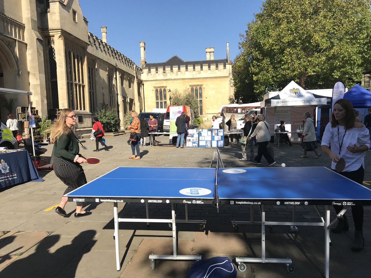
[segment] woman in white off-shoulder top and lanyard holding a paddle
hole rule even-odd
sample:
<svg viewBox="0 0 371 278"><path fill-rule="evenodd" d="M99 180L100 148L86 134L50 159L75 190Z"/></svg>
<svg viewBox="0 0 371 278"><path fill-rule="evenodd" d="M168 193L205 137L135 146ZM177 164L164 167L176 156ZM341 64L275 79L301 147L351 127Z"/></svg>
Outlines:
<svg viewBox="0 0 371 278"><path fill-rule="evenodd" d="M331 149L329 149L330 145ZM362 123L356 122L351 102L347 99L337 100L331 114L331 123L326 125L322 137L322 150L331 158L331 169L335 169L340 157L344 158L346 165L339 174L362 184L365 173L365 152L370 146L368 129ZM355 229L352 250L359 251L364 246L362 234L363 206L355 205L351 207ZM336 214L339 214L343 206L334 205L334 208ZM341 231L348 231L348 229L347 217L342 215L339 218L338 225L331 231L340 233Z"/></svg>

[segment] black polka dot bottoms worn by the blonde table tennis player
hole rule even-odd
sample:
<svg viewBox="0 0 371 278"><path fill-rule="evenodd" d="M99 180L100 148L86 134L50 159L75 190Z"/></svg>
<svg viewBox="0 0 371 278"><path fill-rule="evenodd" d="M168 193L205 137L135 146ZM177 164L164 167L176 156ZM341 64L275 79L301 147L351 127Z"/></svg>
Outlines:
<svg viewBox="0 0 371 278"><path fill-rule="evenodd" d="M68 187L63 195L79 188L86 183L86 177L82 166L62 157L56 157L53 161L55 175ZM83 206L85 202L76 202L76 206Z"/></svg>

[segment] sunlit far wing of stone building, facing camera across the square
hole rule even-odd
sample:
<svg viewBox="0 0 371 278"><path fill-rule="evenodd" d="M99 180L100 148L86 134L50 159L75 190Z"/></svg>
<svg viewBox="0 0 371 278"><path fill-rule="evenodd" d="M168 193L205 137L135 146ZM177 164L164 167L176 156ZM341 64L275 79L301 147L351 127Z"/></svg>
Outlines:
<svg viewBox="0 0 371 278"><path fill-rule="evenodd" d="M145 43L140 42L145 111L170 105L171 91L187 89L198 99L199 115L208 119L233 97L232 63L227 42L226 59L214 60L214 47L206 48L206 60L187 61L173 56L166 62L146 63Z"/></svg>

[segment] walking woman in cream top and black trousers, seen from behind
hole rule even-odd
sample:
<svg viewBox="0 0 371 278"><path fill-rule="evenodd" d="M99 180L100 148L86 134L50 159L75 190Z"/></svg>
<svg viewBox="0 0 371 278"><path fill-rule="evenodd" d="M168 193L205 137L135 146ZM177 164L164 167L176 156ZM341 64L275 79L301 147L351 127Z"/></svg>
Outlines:
<svg viewBox="0 0 371 278"><path fill-rule="evenodd" d="M257 142L257 156L255 156L255 160L253 161L254 164L262 164L260 160L262 160L262 156L268 161L268 165L275 164L275 160L270 156L267 145L270 139L269 133L269 123L265 121L265 115L259 115L259 123L256 125L256 128L252 135L250 135L249 140L252 140L254 136L256 136Z"/></svg>

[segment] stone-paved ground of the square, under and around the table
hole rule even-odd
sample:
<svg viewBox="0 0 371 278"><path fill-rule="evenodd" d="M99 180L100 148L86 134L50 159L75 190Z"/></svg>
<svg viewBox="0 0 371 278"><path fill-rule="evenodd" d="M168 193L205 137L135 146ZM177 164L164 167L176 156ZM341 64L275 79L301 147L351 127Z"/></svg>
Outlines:
<svg viewBox="0 0 371 278"><path fill-rule="evenodd" d="M86 157L101 159L98 165L83 165L86 178L91 181L118 166L137 167L201 167L210 166L212 148L174 148L167 145L168 137L158 136L160 146L141 148L141 160L128 159L131 155L127 145L128 135L106 137L111 146L105 152L93 152L95 142L87 139L81 150ZM49 155L52 145L46 147ZM319 146L320 149L320 146ZM322 153L314 159L299 158L302 148L298 144L289 147L274 147L277 163L273 167L330 166L329 158ZM257 148L255 147L255 152ZM220 148L225 167L268 167L241 162L239 146ZM371 152L366 153L365 183L371 187ZM66 205L68 217L61 217L48 208L58 205L65 185L53 171L40 171L44 182L28 182L0 191L0 278L2 277L184 277L193 262L157 261L152 271L149 254L172 254L172 232L168 224L145 223L119 224L121 251L120 271L116 271L115 243L113 240L113 204L88 203L93 214L84 218L73 217L75 204ZM298 181L300 183L300 173ZM257 185L259 186L259 185ZM323 211L324 207L319 207ZM145 216L145 207L139 203L119 204L125 218ZM255 221L260 221L259 207L252 208ZM151 204L150 216L169 218L170 206ZM177 218L184 219L183 205L178 205ZM234 231L231 221L250 221L250 208L223 205L219 213L214 206L188 205L189 219L207 221L204 231L197 224L177 224L178 254L202 255L203 258L227 256L260 257L260 225L238 225ZM330 277L369 277L371 263L371 211L365 207L365 246L360 252L352 252L354 225L351 213L347 212L350 228L348 232L331 234ZM334 211L331 212L334 217ZM270 221L292 221L292 207L266 206L266 218ZM311 207L296 207L297 221L317 221L318 215ZM299 227L299 232L289 232L288 226L274 226L266 233L266 256L291 258L295 272L289 274L283 264L246 264L244 272L237 277L324 277L324 230L321 227Z"/></svg>

